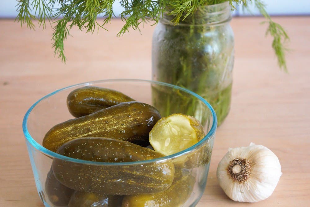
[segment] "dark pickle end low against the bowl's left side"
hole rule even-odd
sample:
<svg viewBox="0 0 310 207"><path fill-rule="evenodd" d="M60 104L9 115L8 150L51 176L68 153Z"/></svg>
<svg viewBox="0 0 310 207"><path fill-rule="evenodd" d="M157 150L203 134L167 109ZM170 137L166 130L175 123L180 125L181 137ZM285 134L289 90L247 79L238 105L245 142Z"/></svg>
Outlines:
<svg viewBox="0 0 310 207"><path fill-rule="evenodd" d="M54 206L67 206L74 190L61 184L55 178L53 170L51 169L47 173L45 192L48 200L50 200Z"/></svg>

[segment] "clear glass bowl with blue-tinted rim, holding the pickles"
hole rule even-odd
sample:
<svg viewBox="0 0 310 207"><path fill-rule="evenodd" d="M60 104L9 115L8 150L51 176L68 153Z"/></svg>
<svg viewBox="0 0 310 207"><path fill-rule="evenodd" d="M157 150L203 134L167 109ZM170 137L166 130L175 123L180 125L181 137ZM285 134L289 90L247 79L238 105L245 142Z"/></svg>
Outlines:
<svg viewBox="0 0 310 207"><path fill-rule="evenodd" d="M165 109L171 109L171 106L163 105L168 101L162 101L165 96L158 96L158 92L164 92L169 96L180 97L184 100L184 104L174 107L173 113L184 113L193 115L198 119L206 133L206 136L197 144L190 148L180 151L176 154L137 162L124 163L104 163L93 162L86 160L78 160L57 154L44 148L42 140L47 131L54 125L64 122L74 117L69 113L66 99L68 94L76 88L84 86L98 86L110 88L120 91L133 99L147 103L158 108L158 110L166 115ZM171 112L172 113L172 112ZM81 83L66 88L62 88L55 92L48 94L37 101L27 111L23 120L23 131L26 138L29 158L31 161L33 175L37 186L38 194L45 206L195 206L200 200L205 187L209 171L210 157L212 152L213 141L217 127L217 119L215 111L210 104L202 97L198 96L187 89L180 88L171 84L161 83L148 80L133 80L133 79L114 79L114 80L100 80L89 83ZM166 173L171 173L173 181L168 189L163 189L160 192L137 195L123 195L123 196L106 196L97 192L77 192L64 186L58 175L53 173L51 169L52 162L66 164L67 168L63 172L72 177L66 179L78 179L79 171L85 176L79 179L86 179L87 182L98 182L98 185L120 184L127 179L133 183L141 183L144 185L147 182L152 182L153 172L149 169L161 169L164 164L172 164L174 166L174 174L170 170ZM87 170L98 170L98 178L89 177L90 172ZM111 172L113 181L104 180L105 175L100 174L100 170L105 169L104 172ZM135 172L136 174L143 174L148 172L150 175L148 180L135 180L137 178L128 178L126 170ZM154 174L156 174L154 172ZM115 178L115 176L119 178ZM127 176L127 177L126 177ZM144 175L145 176L145 175ZM153 176L153 177L152 177ZM57 177L57 178L55 178ZM139 176L138 176L139 177ZM145 178L145 177L144 177ZM96 181L94 181L94 179ZM141 179L141 177L139 178ZM154 178L155 179L155 178ZM156 178L162 179L162 178ZM84 183L84 184L85 184ZM116 185L118 187L122 185ZM143 186L141 186L142 188ZM143 189L143 188L142 188ZM123 194L131 194L131 189L122 189ZM74 194L73 194L74 193ZM116 201L116 202L115 202ZM126 201L126 202L125 202ZM86 203L93 203L93 205ZM113 205L111 205L113 203ZM122 203L123 202L123 203ZM77 205L76 203L79 203ZM108 205L109 203L109 205ZM134 203L134 205L132 205Z"/></svg>

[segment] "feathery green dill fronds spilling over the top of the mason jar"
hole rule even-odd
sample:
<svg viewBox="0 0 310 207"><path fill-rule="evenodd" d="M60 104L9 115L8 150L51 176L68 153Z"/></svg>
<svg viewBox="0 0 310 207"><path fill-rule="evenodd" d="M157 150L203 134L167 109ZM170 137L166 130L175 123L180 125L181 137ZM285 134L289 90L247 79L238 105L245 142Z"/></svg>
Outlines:
<svg viewBox="0 0 310 207"><path fill-rule="evenodd" d="M130 28L139 30L141 23L149 20L154 24L162 17L163 13L173 16L171 20L175 25L180 20L191 16L198 7L214 5L229 1L232 10L235 5L242 4L248 8L248 2L254 2L260 13L266 18L269 24L266 34L273 37L272 47L278 59L280 68L287 71L285 52L285 42L289 40L288 35L281 25L272 21L266 12L265 5L260 0L119 0L124 11L120 14L125 22L117 36L129 31ZM55 4L60 4L57 8ZM55 49L55 55L66 61L64 55L64 41L70 35L69 31L73 26L78 29L86 29L86 32L94 32L95 29L104 28L104 25L110 23L113 18L114 0L19 0L16 11L18 15L16 20L21 25L27 25L29 29L34 29L33 20L38 20L39 27L46 28L46 21L55 24L53 26L52 47ZM104 16L103 22L97 21L97 16ZM59 19L62 17L61 19Z"/></svg>

